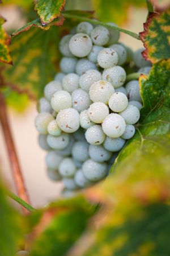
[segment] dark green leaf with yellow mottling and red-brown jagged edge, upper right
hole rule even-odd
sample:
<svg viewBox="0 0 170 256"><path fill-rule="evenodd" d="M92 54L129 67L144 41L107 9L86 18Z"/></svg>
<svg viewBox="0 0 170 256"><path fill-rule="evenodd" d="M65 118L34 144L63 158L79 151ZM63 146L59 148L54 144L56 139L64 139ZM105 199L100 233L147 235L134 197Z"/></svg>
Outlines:
<svg viewBox="0 0 170 256"><path fill-rule="evenodd" d="M170 58L170 9L162 14L150 13L139 36L145 46L142 52L146 60L157 63Z"/></svg>

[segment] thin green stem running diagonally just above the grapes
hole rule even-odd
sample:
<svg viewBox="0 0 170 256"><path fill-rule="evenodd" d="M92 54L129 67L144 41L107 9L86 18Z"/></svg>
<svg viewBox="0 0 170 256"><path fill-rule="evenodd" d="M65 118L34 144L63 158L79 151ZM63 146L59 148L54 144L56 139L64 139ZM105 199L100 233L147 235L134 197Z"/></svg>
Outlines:
<svg viewBox="0 0 170 256"><path fill-rule="evenodd" d="M105 22L100 22L99 20L89 19L89 18L86 18L86 17L78 16L78 15L73 15L73 14L69 14L69 13L62 13L62 14L63 14L63 16L65 18L82 20L84 22L90 22L92 24L96 24L96 25L112 28L113 30L117 30L117 31L123 32L125 34L128 34L128 35L132 36L135 39L141 40L139 38L138 34L136 34L134 32L131 32L129 30L124 30L124 28L116 27L116 26L113 26L111 24L107 24Z"/></svg>

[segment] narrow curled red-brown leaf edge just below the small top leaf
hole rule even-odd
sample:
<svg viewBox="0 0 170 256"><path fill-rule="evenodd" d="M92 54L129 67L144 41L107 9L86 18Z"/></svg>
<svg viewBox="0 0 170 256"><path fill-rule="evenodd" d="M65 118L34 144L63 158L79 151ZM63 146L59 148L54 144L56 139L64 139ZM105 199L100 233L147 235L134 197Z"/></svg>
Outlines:
<svg viewBox="0 0 170 256"><path fill-rule="evenodd" d="M35 20L32 20L31 22L28 22L25 24L22 28L19 28L19 30L14 31L11 36L16 36L21 34L22 32L28 31L31 27L38 27L42 30L49 30L51 26L57 26L61 27L64 22L63 15L61 14L57 19L54 19L53 22L50 22L48 25L42 26L40 18L37 18Z"/></svg>

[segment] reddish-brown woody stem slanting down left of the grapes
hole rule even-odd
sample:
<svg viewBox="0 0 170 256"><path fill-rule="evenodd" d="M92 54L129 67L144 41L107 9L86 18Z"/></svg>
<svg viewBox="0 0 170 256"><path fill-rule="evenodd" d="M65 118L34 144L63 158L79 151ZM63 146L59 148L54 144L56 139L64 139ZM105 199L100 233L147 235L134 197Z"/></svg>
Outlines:
<svg viewBox="0 0 170 256"><path fill-rule="evenodd" d="M2 125L3 135L6 141L8 157L10 159L12 175L14 177L14 182L18 192L18 196L21 199L23 199L26 203L29 204L27 190L24 185L22 171L20 169L18 156L16 154L14 141L12 139L10 124L8 122L6 104L1 92L0 92L0 122ZM23 207L22 210L23 210L23 213L28 214L27 209Z"/></svg>

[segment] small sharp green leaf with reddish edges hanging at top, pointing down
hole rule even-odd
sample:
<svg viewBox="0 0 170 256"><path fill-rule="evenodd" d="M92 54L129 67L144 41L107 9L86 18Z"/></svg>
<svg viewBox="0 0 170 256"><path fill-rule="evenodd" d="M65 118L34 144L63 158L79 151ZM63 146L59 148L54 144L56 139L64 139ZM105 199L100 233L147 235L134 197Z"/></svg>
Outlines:
<svg viewBox="0 0 170 256"><path fill-rule="evenodd" d="M35 9L40 16L43 25L58 18L65 6L65 0L37 0Z"/></svg>

